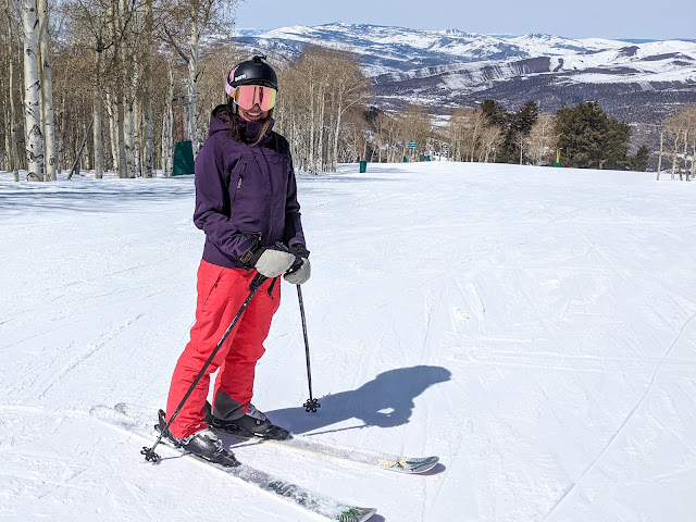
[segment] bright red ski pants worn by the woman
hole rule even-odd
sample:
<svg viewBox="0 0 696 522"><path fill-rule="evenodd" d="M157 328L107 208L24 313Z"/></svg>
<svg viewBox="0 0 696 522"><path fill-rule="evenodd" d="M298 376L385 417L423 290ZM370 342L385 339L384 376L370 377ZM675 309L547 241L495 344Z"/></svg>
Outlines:
<svg viewBox="0 0 696 522"><path fill-rule="evenodd" d="M178 358L166 401L167 419L176 411L186 391L249 296L256 271L227 269L201 261L198 269L196 324L190 341ZM208 366L203 377L170 426L172 435L184 438L206 427L203 407L210 388L210 375L217 372L214 397L219 391L241 405L246 412L253 395L257 361L265 351L271 320L281 302L281 285L266 281Z"/></svg>

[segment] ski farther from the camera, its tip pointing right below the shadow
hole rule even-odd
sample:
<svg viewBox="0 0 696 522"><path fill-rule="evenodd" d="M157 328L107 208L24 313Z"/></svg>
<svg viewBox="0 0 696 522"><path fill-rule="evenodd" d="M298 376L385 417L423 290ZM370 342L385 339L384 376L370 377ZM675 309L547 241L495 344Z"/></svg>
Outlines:
<svg viewBox="0 0 696 522"><path fill-rule="evenodd" d="M285 448L299 449L318 455L325 455L336 459L349 460L362 464L374 465L383 470L396 471L399 473L419 474L425 473L439 462L439 457L405 457L393 453L382 453L370 449L359 449L350 446L341 446L334 443L314 440L310 437L290 434L290 438L273 439L261 438L253 434L244 434L219 430L211 425L210 405L206 405L206 421L211 430L224 437L232 437L239 440L251 440L262 444L271 444ZM233 444L234 446L234 444Z"/></svg>

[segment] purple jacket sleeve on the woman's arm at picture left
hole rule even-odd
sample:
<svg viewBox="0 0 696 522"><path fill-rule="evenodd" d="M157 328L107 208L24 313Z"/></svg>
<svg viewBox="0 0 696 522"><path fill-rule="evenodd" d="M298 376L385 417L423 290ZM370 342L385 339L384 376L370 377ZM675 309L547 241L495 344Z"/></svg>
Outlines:
<svg viewBox="0 0 696 522"><path fill-rule="evenodd" d="M210 145L213 145L211 147ZM203 145L196 158L194 223L223 253L240 258L259 243L253 234L237 231L229 219L231 203L225 165L214 144Z"/></svg>

